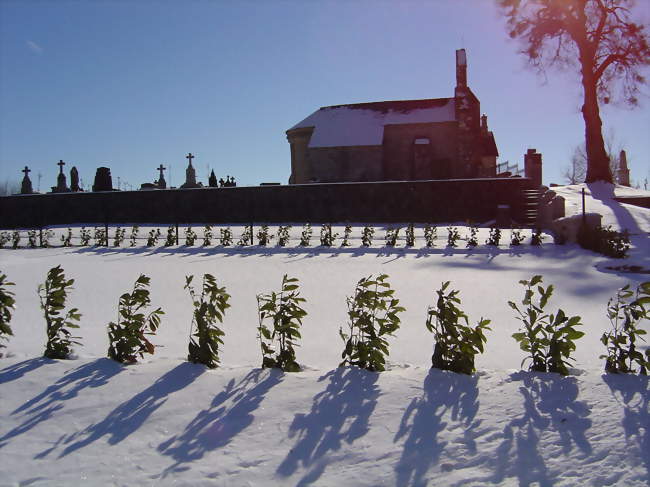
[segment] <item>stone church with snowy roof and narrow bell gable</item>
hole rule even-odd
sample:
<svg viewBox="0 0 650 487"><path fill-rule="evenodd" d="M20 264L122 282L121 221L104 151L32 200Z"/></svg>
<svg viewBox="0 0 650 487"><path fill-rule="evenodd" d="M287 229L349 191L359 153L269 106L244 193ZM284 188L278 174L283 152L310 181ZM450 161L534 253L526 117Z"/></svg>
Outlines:
<svg viewBox="0 0 650 487"><path fill-rule="evenodd" d="M323 107L287 130L290 184L494 177L499 155L456 51L452 98Z"/></svg>

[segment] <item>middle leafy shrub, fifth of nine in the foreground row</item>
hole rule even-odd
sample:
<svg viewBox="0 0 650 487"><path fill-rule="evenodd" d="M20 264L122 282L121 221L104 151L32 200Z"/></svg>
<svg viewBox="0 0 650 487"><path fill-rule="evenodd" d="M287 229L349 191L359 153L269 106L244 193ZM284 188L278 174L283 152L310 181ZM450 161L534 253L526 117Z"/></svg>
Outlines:
<svg viewBox="0 0 650 487"><path fill-rule="evenodd" d="M307 312L301 307L305 299L300 297L297 283L298 279L289 278L285 274L279 293L257 296L257 331L264 368L276 367L286 372L300 372L295 347L298 346L296 340L301 337L300 326Z"/></svg>

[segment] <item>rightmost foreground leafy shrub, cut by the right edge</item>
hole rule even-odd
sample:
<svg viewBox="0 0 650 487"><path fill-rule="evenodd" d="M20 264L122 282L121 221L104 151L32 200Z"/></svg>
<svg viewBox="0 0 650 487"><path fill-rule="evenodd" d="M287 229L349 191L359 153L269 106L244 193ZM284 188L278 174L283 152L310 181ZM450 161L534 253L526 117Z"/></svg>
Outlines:
<svg viewBox="0 0 650 487"><path fill-rule="evenodd" d="M638 373L648 375L650 349L645 354L638 350L637 339L644 341L646 331L639 328L641 320L650 316L650 281L639 284L636 293L630 285L623 286L607 303L607 317L612 329L600 338L607 348L605 370L610 373Z"/></svg>

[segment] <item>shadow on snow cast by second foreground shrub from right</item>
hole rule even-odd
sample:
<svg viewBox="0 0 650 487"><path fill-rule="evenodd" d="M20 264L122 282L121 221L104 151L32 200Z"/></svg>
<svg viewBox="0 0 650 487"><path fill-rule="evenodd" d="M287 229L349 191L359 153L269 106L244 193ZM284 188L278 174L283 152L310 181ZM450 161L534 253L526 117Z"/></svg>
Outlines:
<svg viewBox="0 0 650 487"><path fill-rule="evenodd" d="M574 444L583 455L591 454L586 437L591 427L589 406L577 400L579 390L575 377L522 371L510 377L523 382L519 392L524 397L524 413L504 428L504 439L497 449L496 471L489 480L500 483L506 477L517 476L520 485L554 485L555 479L539 451L540 436L557 432L562 452L571 456L572 461L577 458L573 453Z"/></svg>

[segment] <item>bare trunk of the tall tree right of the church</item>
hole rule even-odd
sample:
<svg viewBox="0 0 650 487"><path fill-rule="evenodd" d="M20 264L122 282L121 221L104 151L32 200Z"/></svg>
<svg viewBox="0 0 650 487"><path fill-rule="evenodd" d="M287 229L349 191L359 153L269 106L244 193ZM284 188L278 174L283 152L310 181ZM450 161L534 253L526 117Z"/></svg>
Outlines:
<svg viewBox="0 0 650 487"><path fill-rule="evenodd" d="M587 152L587 177L585 182L605 181L611 183L612 173L609 169L609 157L603 140L603 123L598 108L596 80L592 70L585 67L582 70L582 86L584 89L582 117L585 121L585 148Z"/></svg>

